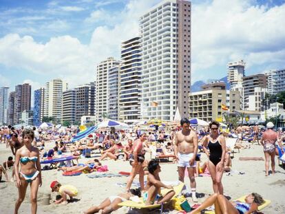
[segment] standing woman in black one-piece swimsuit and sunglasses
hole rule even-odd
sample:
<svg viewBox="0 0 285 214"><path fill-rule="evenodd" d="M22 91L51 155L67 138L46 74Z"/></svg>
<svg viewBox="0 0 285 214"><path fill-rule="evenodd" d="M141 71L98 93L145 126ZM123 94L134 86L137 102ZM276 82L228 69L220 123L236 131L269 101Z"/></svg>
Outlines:
<svg viewBox="0 0 285 214"><path fill-rule="evenodd" d="M224 173L226 141L224 140L224 136L219 134L220 124L218 122L211 122L209 127L211 131L210 134L204 138L203 148L204 152L209 157L208 165L213 180L213 191L214 193L223 195L224 188L222 186L222 174ZM210 153L207 147L209 148Z"/></svg>

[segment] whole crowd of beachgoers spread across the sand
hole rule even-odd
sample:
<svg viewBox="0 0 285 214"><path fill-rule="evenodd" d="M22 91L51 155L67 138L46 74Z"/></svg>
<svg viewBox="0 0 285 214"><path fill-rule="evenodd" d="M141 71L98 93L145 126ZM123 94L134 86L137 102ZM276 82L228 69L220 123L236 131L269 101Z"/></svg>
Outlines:
<svg viewBox="0 0 285 214"><path fill-rule="evenodd" d="M125 192L110 196L100 205L89 208L85 213L110 213L118 209L118 204L129 200L134 195L142 196L145 204L164 203L171 200L174 195L173 186L163 184L160 181L160 164L158 160L147 160L147 152L155 153L154 158L160 156L172 156L177 163L178 180L184 182L185 169L187 169L191 187L193 202L198 202L196 197L196 179L200 173L209 171L213 182L213 195L200 204L195 211L198 213L207 206L215 204L216 213L252 213L263 200L257 193L251 193L246 197L246 202L229 202L224 197L222 176L224 171L231 170L230 148L226 147L226 138L237 138L236 147L250 148L257 145L264 147L265 175L269 175L269 162L271 171L275 173L275 155L278 155L277 145L284 153L282 142L285 133L281 130L274 131L273 123L268 122L265 127L254 125L252 127L240 125L236 129L222 130L219 122L211 122L209 127L191 127L187 118L182 118L180 125L171 126L171 129L143 130L137 126L128 131L99 130L90 134L83 140L71 143L72 138L80 131L78 127L66 127L56 129L14 129L14 127L1 127L0 140L6 147L10 147L12 155L6 162L0 165L0 181L2 174L6 181L16 182L19 198L15 204L14 213L18 213L19 207L25 198L26 189L30 184L30 201L32 213L37 209L37 192L42 184L41 161L60 158L65 153L72 156L91 156L91 153L101 153L98 159L78 163L76 166L56 166L64 172L85 171L92 173L103 166L106 159L128 161L130 175L127 180ZM156 127L157 128L157 127ZM45 149L46 143L54 143L52 149ZM208 160L200 162L199 151L204 152ZM13 158L14 156L14 158ZM12 168L11 179L6 172ZM140 189L131 189L134 178L138 175ZM147 181L145 184L145 175ZM62 185L57 181L50 184L52 191L60 193L56 204L66 203L67 195L72 200L78 193L75 186ZM160 195L160 189L169 189L166 195Z"/></svg>

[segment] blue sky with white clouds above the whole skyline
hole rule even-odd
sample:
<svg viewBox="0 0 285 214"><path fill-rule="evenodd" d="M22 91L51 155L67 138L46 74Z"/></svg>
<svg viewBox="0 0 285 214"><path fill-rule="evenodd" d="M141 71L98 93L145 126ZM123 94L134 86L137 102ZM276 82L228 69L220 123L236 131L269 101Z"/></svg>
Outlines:
<svg viewBox="0 0 285 214"><path fill-rule="evenodd" d="M120 57L138 19L160 0L0 0L0 87L52 78L71 87L95 80L96 63ZM284 68L285 1L192 1L192 83L226 76L244 59L246 75Z"/></svg>

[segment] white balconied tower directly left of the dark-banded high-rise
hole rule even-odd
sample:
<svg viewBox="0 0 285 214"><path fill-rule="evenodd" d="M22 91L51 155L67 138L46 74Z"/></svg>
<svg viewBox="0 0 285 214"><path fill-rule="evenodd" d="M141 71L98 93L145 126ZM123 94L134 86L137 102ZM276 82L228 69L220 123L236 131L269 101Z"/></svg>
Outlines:
<svg viewBox="0 0 285 214"><path fill-rule="evenodd" d="M107 118L107 99L109 98L109 87L108 87L108 77L109 69L118 66L120 63L116 61L113 57L107 58L107 60L102 61L97 65L96 72L96 121Z"/></svg>

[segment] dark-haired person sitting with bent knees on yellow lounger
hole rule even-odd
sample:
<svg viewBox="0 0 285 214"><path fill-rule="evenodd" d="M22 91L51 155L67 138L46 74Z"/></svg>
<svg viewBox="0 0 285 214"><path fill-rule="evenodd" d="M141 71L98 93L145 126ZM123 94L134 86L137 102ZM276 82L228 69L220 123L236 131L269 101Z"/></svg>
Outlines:
<svg viewBox="0 0 285 214"><path fill-rule="evenodd" d="M145 186L146 192L143 193L142 198L145 205L150 204L162 204L171 200L175 192L171 185L165 185L160 182L160 165L158 160L151 160L148 164L149 174L147 175L147 185ZM160 195L161 188L169 189L169 192L165 196Z"/></svg>

